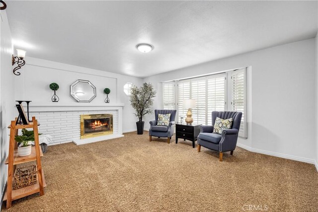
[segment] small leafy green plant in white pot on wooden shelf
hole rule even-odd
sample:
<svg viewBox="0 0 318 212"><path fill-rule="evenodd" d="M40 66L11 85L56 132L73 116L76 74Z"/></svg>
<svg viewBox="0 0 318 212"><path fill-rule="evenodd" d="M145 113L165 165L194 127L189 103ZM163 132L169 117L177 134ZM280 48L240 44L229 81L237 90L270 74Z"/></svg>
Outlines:
<svg viewBox="0 0 318 212"><path fill-rule="evenodd" d="M39 135L41 135L39 133ZM31 154L31 144L30 141L34 141L34 131L28 131L27 129L22 129L22 135L15 136L15 141L22 143L18 146L18 153L20 157L28 156Z"/></svg>

